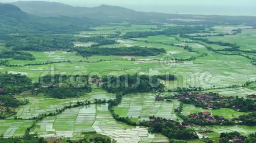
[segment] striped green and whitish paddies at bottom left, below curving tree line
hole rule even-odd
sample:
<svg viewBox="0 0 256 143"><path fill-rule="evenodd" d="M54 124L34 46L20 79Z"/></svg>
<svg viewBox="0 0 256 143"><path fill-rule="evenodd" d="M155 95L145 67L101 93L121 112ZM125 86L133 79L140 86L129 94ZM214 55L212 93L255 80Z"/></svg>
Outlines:
<svg viewBox="0 0 256 143"><path fill-rule="evenodd" d="M133 127L115 121L107 109L107 104L67 109L60 115L45 118L32 132L38 132L42 137L80 139L85 136L82 132L90 131L109 136L118 143L166 141L166 137L160 134L149 135L147 128Z"/></svg>

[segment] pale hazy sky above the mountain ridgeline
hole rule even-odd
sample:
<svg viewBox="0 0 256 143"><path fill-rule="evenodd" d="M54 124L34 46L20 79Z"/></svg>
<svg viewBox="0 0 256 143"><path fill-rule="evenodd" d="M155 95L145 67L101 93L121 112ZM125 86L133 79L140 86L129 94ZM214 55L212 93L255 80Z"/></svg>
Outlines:
<svg viewBox="0 0 256 143"><path fill-rule="evenodd" d="M0 0L13 2L18 0ZM31 0L23 0L31 1ZM155 11L180 14L255 15L256 0L34 0L53 1L80 7L101 4L132 8L137 11Z"/></svg>

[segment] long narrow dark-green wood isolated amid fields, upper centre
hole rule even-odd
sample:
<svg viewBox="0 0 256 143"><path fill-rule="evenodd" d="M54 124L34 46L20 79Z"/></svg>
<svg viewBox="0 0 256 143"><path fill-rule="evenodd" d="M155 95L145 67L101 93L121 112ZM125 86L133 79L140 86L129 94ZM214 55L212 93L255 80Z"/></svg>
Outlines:
<svg viewBox="0 0 256 143"><path fill-rule="evenodd" d="M148 48L140 46L119 48L77 47L75 50L78 52L78 54L82 55L83 57L90 57L92 55L156 56L161 53L166 53L166 50L163 48Z"/></svg>

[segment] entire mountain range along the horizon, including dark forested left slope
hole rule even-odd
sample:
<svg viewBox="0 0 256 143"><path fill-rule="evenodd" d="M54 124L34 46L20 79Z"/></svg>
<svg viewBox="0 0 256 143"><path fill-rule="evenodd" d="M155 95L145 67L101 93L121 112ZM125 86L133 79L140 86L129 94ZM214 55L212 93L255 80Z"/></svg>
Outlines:
<svg viewBox="0 0 256 143"><path fill-rule="evenodd" d="M192 21L182 19L192 19ZM67 4L21 1L0 4L0 34L75 32L109 22L128 21L132 24L152 24L151 21L180 25L256 25L252 16L218 16L139 12L124 7L73 7Z"/></svg>

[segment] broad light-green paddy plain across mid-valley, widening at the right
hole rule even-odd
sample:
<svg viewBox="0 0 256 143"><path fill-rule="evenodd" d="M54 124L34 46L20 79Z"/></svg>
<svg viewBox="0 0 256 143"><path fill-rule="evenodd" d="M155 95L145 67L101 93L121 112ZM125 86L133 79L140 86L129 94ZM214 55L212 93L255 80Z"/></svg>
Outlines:
<svg viewBox="0 0 256 143"><path fill-rule="evenodd" d="M216 57L218 58L216 59ZM234 83L242 85L246 81L256 79L256 67L250 64L248 59L241 56L228 57L227 59L226 56L209 54L207 57L199 57L195 61L183 63L176 63L173 60L151 61L151 59L144 59L144 61L128 61L125 59L97 63L71 62L24 67L0 66L0 72L22 72L34 81L39 76L49 73L122 75L126 73L146 74L150 72L151 74L161 74L169 72L181 76L178 80L182 81L181 85L183 87L201 86L203 88L225 87ZM168 87L175 87L175 84L170 83Z"/></svg>

